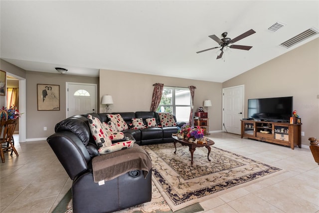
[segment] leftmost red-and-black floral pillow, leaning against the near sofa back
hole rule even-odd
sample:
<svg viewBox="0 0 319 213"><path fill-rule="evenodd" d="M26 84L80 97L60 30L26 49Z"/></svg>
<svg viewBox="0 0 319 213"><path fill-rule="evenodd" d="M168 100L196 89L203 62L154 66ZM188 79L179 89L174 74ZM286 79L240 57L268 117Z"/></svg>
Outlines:
<svg viewBox="0 0 319 213"><path fill-rule="evenodd" d="M90 131L96 145L101 147L109 147L112 145L112 141L104 129L102 122L92 115L88 115Z"/></svg>

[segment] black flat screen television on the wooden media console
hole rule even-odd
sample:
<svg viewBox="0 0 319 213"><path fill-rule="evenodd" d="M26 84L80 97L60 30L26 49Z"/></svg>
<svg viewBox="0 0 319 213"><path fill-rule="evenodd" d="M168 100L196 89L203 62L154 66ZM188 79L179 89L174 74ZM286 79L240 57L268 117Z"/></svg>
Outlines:
<svg viewBox="0 0 319 213"><path fill-rule="evenodd" d="M248 118L289 122L293 113L293 96L248 99Z"/></svg>

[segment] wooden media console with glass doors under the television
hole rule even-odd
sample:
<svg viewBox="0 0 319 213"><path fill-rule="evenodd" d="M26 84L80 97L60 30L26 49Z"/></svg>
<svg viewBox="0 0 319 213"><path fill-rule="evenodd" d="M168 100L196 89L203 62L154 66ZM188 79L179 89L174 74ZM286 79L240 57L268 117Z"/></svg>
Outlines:
<svg viewBox="0 0 319 213"><path fill-rule="evenodd" d="M246 137L284 146L301 148L301 125L280 122L241 121L241 138Z"/></svg>

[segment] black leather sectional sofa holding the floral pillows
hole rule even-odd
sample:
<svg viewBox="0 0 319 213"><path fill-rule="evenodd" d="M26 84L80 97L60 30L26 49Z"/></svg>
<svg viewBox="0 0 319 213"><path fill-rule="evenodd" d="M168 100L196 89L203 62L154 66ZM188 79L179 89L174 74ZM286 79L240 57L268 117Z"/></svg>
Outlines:
<svg viewBox="0 0 319 213"><path fill-rule="evenodd" d="M119 114L129 126L131 126L132 118L143 118L143 122L147 118L156 118L157 122L160 123L159 115L156 112L123 112ZM92 113L91 115L99 118L102 122L108 122L106 113ZM152 162L148 153L140 145L171 142L171 134L176 133L178 128L173 126L124 130L126 139L134 137L136 141L134 147L99 155L90 132L89 119L86 116L76 115L57 123L55 133L47 138L48 144L70 179L73 180L71 188L73 212L109 213L151 201ZM177 123L179 126L183 124ZM112 141L112 143L116 142ZM124 169L114 168L117 167L114 161L123 161L123 157L121 159L120 155L131 150L134 153L140 152L141 155L145 155L144 159L139 160L140 166ZM135 157L135 154L132 153L128 153L128 155ZM111 161L113 163L109 165ZM104 170L104 174L114 175L114 178L105 179L107 181L105 183L102 181L102 185L98 184L94 177L95 163L98 163L99 166L113 167L112 170ZM124 160L122 165L132 165L132 162L126 163ZM108 171L113 172L110 174ZM117 171L122 172L115 174Z"/></svg>

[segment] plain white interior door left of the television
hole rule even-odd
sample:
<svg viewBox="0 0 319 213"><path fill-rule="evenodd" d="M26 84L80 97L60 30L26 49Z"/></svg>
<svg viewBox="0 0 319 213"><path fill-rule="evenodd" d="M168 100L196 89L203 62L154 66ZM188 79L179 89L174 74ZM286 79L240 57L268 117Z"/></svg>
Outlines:
<svg viewBox="0 0 319 213"><path fill-rule="evenodd" d="M224 131L240 134L244 108L244 85L223 88L223 127Z"/></svg>

